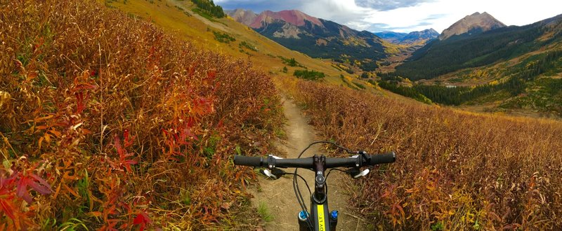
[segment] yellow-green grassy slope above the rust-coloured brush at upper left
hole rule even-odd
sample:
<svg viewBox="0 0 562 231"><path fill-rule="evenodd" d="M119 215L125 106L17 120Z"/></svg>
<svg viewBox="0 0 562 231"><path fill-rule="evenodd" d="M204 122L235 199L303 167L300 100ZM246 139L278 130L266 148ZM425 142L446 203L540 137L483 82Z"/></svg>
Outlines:
<svg viewBox="0 0 562 231"><path fill-rule="evenodd" d="M106 6L124 10L131 14L131 17L139 17L140 20L151 20L164 30L177 34L201 48L247 58L256 68L274 75L292 76L294 70L303 69L284 64L281 58L283 57L294 58L309 70L322 71L326 74L325 80L328 83L340 85L342 81L339 76L349 76L328 62L289 50L230 18L204 18L193 12L195 6L191 1L111 1L106 2ZM221 43L216 40L214 33L227 34L235 38L235 41ZM247 45L243 45L244 43ZM284 66L287 66L287 73L282 72Z"/></svg>

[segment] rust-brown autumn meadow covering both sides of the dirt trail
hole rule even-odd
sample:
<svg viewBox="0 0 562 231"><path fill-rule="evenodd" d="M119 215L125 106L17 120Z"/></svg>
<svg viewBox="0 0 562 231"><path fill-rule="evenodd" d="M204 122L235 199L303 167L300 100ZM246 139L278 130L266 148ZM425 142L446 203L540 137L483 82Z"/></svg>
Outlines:
<svg viewBox="0 0 562 231"><path fill-rule="evenodd" d="M275 152L280 91L321 137L396 151L350 185L372 229L562 229L558 120L272 80L97 1L0 1L0 22L0 230L258 228L231 157Z"/></svg>

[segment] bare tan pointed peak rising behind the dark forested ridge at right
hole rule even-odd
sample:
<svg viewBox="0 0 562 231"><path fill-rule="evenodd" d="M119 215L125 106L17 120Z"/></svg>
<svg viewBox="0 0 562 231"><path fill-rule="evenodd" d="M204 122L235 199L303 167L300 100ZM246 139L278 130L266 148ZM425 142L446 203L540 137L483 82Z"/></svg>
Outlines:
<svg viewBox="0 0 562 231"><path fill-rule="evenodd" d="M445 29L439 36L440 40L447 39L450 36L466 34L466 33L481 33L484 31L489 31L491 29L497 29L500 27L505 27L502 22L492 17L488 13L473 13L472 15L466 15L451 25L449 28Z"/></svg>

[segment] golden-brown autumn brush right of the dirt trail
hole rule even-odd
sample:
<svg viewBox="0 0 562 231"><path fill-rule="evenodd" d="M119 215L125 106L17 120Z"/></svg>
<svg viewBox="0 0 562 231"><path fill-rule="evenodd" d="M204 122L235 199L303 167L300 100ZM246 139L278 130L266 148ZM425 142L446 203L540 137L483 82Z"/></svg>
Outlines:
<svg viewBox="0 0 562 231"><path fill-rule="evenodd" d="M285 78L325 139L396 151L351 202L383 230L561 230L562 123Z"/></svg>

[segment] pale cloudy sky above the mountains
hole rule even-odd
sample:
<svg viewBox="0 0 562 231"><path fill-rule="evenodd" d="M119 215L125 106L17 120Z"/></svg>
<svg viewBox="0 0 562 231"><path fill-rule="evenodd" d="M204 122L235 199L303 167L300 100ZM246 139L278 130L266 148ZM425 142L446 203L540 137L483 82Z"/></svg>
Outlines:
<svg viewBox="0 0 562 231"><path fill-rule="evenodd" d="M441 32L466 15L488 12L505 25L528 25L562 14L560 0L214 0L224 9L301 10L353 29Z"/></svg>

